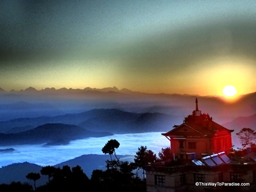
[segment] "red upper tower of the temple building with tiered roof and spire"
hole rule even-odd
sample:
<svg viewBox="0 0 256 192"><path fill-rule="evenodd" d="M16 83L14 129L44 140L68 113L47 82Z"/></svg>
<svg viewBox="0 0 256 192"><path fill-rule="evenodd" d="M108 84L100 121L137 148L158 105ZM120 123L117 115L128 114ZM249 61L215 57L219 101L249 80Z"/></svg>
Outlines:
<svg viewBox="0 0 256 192"><path fill-rule="evenodd" d="M173 159L190 159L191 153L196 153L197 158L209 156L222 151L229 154L232 147L231 132L220 124L212 121L209 114L198 110L196 98L196 110L192 115L185 117L180 125L174 125L174 129L162 133L171 142Z"/></svg>

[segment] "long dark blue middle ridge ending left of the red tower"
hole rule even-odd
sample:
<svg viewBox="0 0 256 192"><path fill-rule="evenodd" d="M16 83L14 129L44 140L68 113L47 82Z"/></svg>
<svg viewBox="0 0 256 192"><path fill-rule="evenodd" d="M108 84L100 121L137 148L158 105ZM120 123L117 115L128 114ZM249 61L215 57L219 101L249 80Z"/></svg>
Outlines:
<svg viewBox="0 0 256 192"><path fill-rule="evenodd" d="M54 117L19 118L0 122L0 132L17 133L42 124L74 124L87 130L111 133L168 131L182 117L161 113L130 113L117 109L93 109ZM26 132L31 134L30 132ZM25 133L24 133L25 134ZM1 143L1 141L0 141Z"/></svg>

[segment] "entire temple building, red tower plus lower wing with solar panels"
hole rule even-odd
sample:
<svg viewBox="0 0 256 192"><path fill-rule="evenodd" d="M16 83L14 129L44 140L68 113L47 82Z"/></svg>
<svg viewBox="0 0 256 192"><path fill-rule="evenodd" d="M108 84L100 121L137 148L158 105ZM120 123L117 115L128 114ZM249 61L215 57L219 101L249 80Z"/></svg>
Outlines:
<svg viewBox="0 0 256 192"><path fill-rule="evenodd" d="M192 115L173 127L162 133L171 142L173 158L145 166L147 192L255 191L256 153L249 147L231 154L234 130L215 123L209 114L202 114L197 99ZM226 188L205 183L246 185Z"/></svg>

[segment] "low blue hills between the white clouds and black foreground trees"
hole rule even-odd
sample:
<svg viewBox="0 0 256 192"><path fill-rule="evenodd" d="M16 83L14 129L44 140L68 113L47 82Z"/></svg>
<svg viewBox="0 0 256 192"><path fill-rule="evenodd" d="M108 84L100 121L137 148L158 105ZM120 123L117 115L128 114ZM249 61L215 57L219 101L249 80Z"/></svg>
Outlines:
<svg viewBox="0 0 256 192"><path fill-rule="evenodd" d="M117 155L121 161L133 161L132 155ZM106 160L110 160L109 155L82 155L66 162L56 164L54 167L62 168L63 165L68 165L71 168L79 165L82 167L86 175L91 178L92 171L95 169L106 170ZM0 184L11 183L12 181L28 182L33 185L34 181L28 180L26 175L29 172L40 173L42 166L31 164L28 162L15 163L0 168ZM36 186L44 185L48 182L48 176L41 175L41 178L36 181Z"/></svg>

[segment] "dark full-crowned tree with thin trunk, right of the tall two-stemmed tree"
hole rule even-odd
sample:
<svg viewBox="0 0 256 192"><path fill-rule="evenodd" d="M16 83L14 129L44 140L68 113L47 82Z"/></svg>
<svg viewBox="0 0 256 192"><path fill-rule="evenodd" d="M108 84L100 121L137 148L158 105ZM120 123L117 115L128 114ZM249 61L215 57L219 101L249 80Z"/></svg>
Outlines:
<svg viewBox="0 0 256 192"><path fill-rule="evenodd" d="M156 154L154 154L151 150L147 150L147 146L140 146L140 148L138 148L134 158L134 165L138 168L138 170L143 170L143 180L145 180L144 165L154 163L156 160Z"/></svg>

